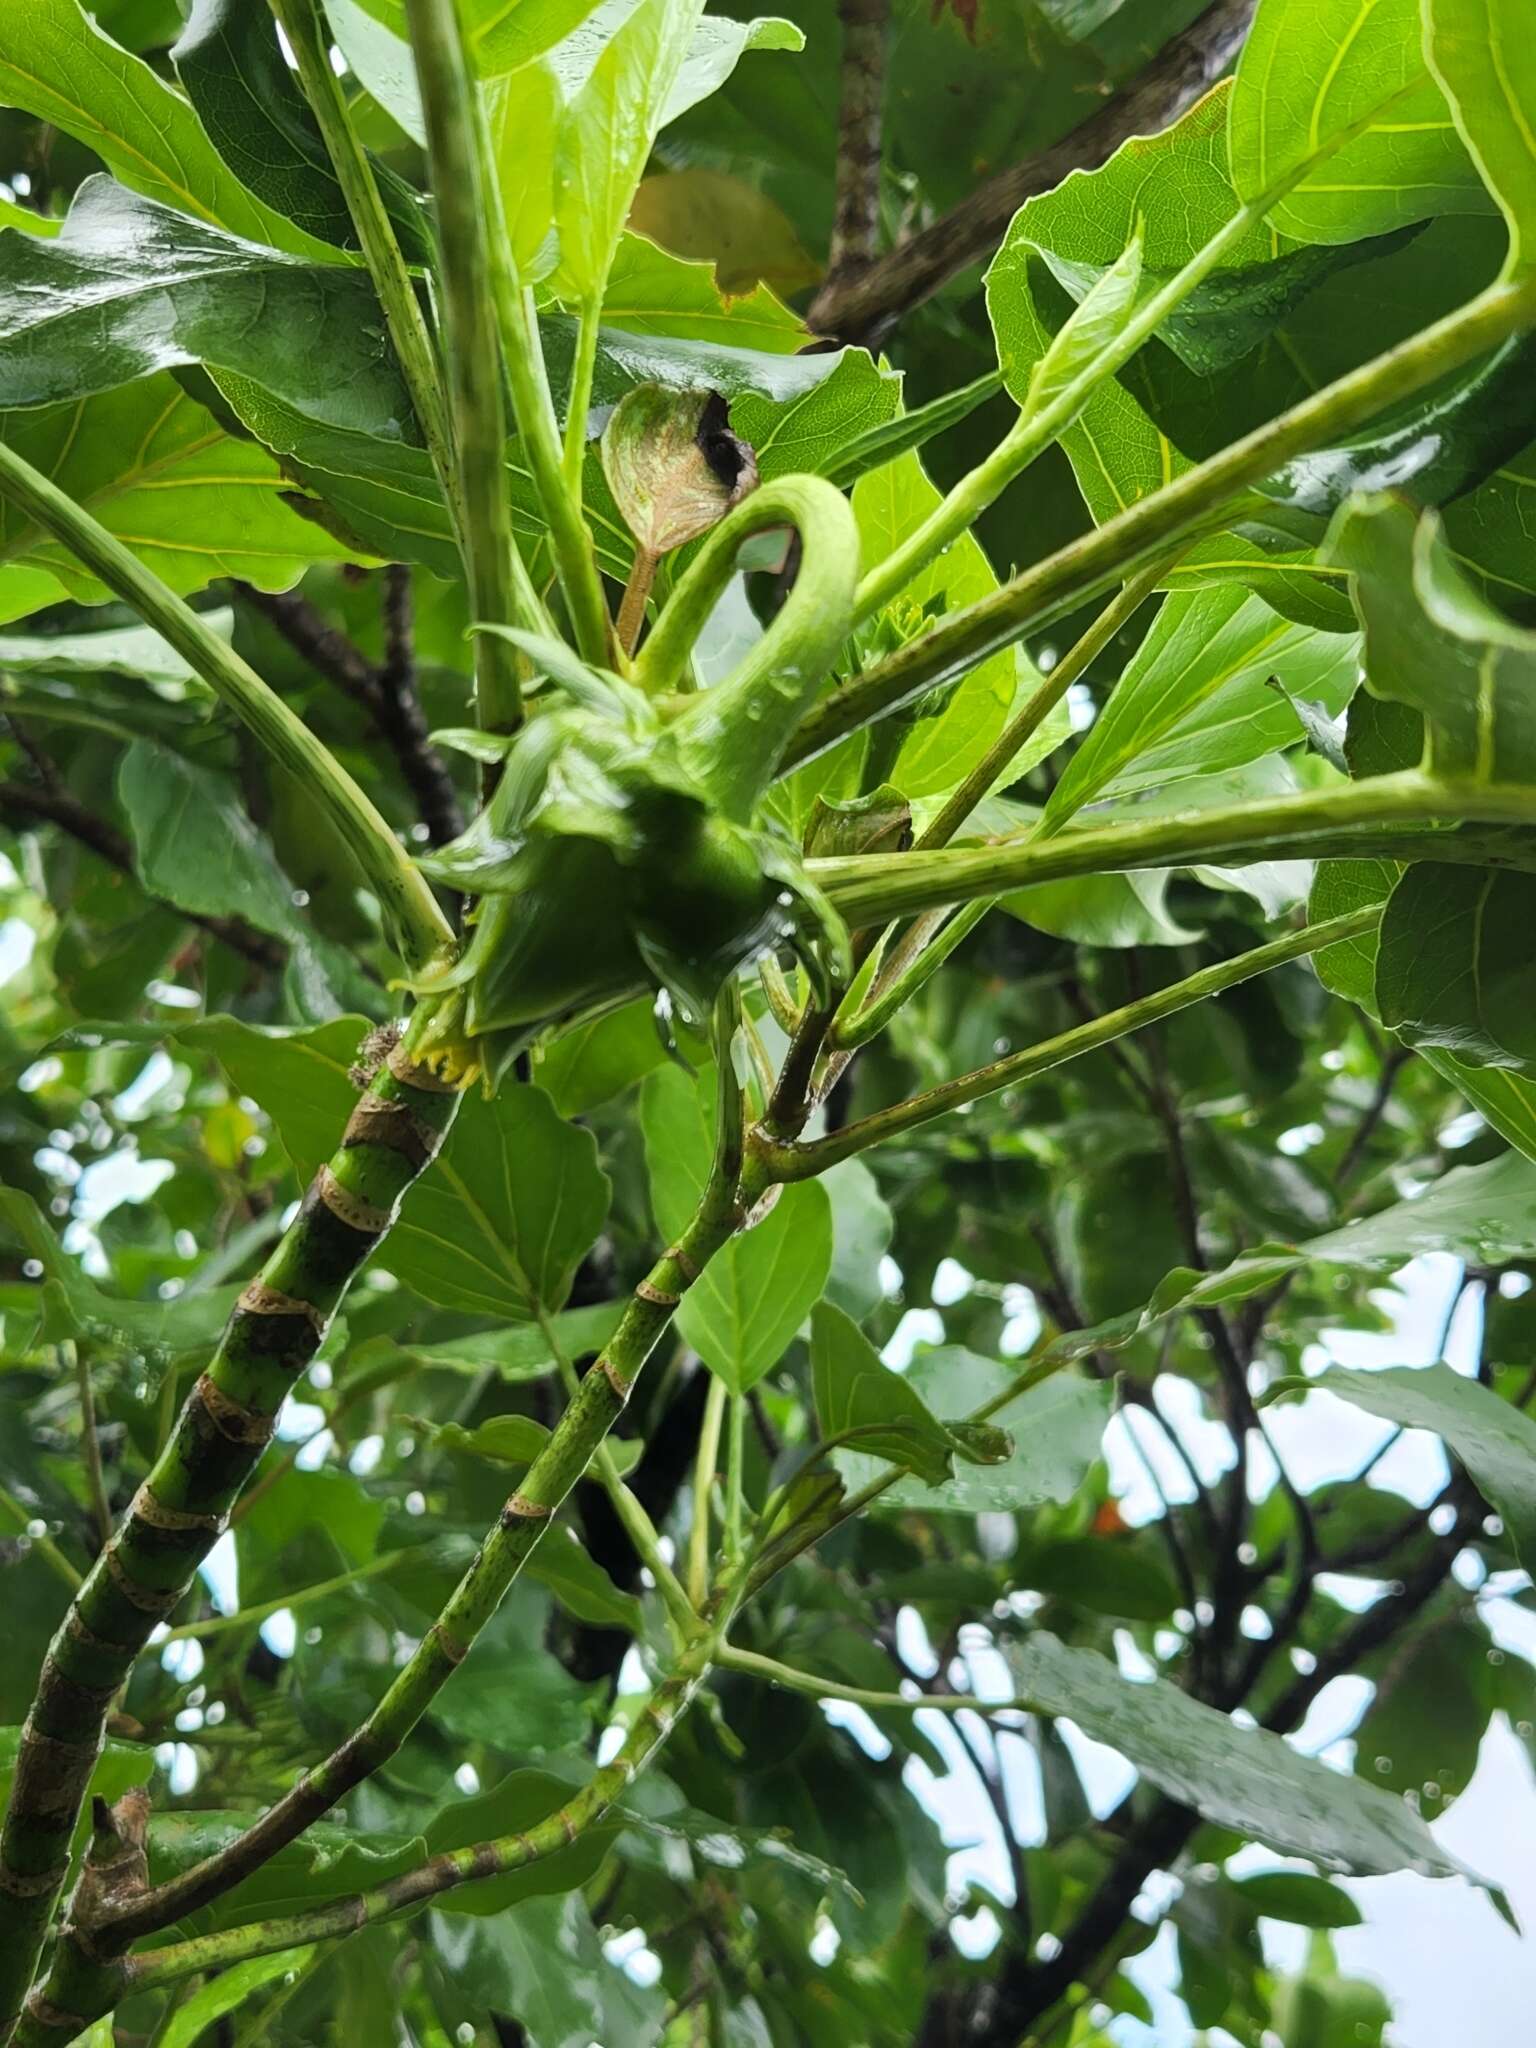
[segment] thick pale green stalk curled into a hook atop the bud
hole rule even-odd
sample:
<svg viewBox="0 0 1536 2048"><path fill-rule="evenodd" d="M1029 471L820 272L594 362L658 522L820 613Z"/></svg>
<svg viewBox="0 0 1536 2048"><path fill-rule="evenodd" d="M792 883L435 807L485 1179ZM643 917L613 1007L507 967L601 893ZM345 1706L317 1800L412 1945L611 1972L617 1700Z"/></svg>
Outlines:
<svg viewBox="0 0 1536 2048"><path fill-rule="evenodd" d="M848 635L858 526L842 492L823 477L778 477L743 498L711 530L635 664L635 682L647 694L676 690L705 621L735 573L741 543L776 526L793 526L801 537L795 588L752 653L723 682L684 698L672 721L680 758L713 801L741 821L772 780Z"/></svg>

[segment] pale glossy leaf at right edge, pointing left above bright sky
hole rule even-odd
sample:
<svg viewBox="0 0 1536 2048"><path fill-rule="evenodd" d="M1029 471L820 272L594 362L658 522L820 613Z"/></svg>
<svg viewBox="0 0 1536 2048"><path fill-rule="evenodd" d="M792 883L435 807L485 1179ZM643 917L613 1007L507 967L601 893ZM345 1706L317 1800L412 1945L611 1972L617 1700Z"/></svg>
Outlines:
<svg viewBox="0 0 1536 2048"><path fill-rule="evenodd" d="M1524 1159L1518 1163L1528 1165ZM1274 1391L1313 1389L1337 1395L1382 1421L1432 1430L1444 1438L1503 1518L1516 1554L1530 1571L1536 1563L1536 1421L1524 1409L1444 1364L1384 1366L1380 1372L1329 1366L1317 1378L1280 1380Z"/></svg>

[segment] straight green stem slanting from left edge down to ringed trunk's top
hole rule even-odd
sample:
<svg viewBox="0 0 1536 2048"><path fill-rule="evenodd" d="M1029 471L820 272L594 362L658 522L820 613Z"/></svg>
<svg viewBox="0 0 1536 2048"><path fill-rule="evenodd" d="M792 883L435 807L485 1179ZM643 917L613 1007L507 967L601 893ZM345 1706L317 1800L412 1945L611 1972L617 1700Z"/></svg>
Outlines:
<svg viewBox="0 0 1536 2048"><path fill-rule="evenodd" d="M152 625L332 819L369 889L379 897L401 961L420 971L451 950L453 926L389 823L276 690L90 512L6 446L0 446L0 496L61 541L92 575Z"/></svg>

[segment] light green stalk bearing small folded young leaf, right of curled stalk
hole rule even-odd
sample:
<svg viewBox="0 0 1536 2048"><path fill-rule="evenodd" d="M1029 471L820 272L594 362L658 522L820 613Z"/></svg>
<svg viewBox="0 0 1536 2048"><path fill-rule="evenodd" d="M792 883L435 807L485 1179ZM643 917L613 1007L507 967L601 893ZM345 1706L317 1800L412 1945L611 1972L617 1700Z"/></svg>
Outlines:
<svg viewBox="0 0 1536 2048"><path fill-rule="evenodd" d="M1288 182L1294 182L1288 180ZM1120 328L1112 342L1108 342L1073 381L1059 391L1049 403L1036 406L1030 399L1024 401L1018 420L1004 434L997 446L985 461L981 461L969 475L961 477L954 489L936 506L928 518L918 526L901 547L893 549L885 561L877 563L868 575L858 586L856 616L868 618L891 602L907 584L920 575L930 561L934 561L952 541L963 532L969 532L981 514L993 504L1004 489L1022 475L1028 465L1042 455L1053 440L1057 440L1083 406L1090 401L1094 391L1104 383L1106 377L1114 377L1116 371L1135 356L1143 342L1161 328L1171 311L1176 311L1190 293L1204 283L1206 276L1217 268L1221 258L1233 250L1251 227L1264 219L1280 190L1266 193L1251 205L1239 207L1237 213L1221 227L1202 250L1184 264L1184 268L1155 291L1133 317Z"/></svg>

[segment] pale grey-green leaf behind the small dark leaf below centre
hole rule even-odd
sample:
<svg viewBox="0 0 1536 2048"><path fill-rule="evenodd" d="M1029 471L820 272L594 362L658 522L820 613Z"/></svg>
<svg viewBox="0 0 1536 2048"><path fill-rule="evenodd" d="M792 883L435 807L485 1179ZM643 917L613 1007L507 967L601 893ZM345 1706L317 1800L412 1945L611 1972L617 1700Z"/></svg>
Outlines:
<svg viewBox="0 0 1536 2048"><path fill-rule="evenodd" d="M930 1415L969 1415L1008 1386L1012 1368L946 1346L920 1352L903 1378ZM1028 1395L1018 1395L989 1419L1006 1425L1014 1440L1008 1458L963 1464L938 1485L926 1485L918 1477L899 1479L881 1495L881 1503L940 1513L989 1513L1071 1499L1083 1473L1098 1458L1100 1438L1110 1419L1110 1389L1059 1374ZM887 1475L887 1464L862 1450L838 1450L834 1464L848 1493Z"/></svg>

